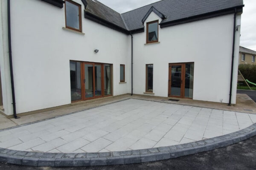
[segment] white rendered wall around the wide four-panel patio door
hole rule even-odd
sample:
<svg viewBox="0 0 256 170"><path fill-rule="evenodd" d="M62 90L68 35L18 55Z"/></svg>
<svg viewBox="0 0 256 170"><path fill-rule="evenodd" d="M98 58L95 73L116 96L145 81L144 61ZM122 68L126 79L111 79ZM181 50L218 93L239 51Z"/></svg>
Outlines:
<svg viewBox="0 0 256 170"><path fill-rule="evenodd" d="M17 113L70 104L70 60L113 64L113 95L131 93L131 36L85 19L82 1L75 1L82 7L84 35L62 29L65 8L11 1ZM120 64L126 84L119 84Z"/></svg>

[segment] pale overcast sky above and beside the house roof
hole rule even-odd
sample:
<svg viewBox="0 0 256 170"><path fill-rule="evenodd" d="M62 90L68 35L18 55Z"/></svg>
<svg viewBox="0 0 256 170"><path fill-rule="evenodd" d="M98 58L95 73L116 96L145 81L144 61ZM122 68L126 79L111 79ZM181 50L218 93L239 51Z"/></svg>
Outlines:
<svg viewBox="0 0 256 170"><path fill-rule="evenodd" d="M124 13L159 0L99 0L119 13ZM240 45L256 51L256 0L244 0Z"/></svg>

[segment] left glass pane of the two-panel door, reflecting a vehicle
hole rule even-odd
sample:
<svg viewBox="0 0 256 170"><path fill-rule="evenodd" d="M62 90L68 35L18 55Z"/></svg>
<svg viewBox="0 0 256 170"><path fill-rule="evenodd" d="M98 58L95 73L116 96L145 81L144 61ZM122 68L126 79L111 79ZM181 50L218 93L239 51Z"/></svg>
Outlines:
<svg viewBox="0 0 256 170"><path fill-rule="evenodd" d="M172 65L171 95L181 95L181 65Z"/></svg>

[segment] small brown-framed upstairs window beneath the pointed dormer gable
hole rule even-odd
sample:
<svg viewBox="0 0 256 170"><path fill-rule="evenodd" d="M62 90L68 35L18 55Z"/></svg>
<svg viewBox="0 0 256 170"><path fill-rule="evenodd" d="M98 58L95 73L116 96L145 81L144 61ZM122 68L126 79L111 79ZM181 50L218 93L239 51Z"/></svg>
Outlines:
<svg viewBox="0 0 256 170"><path fill-rule="evenodd" d="M147 43L158 42L158 20L147 23Z"/></svg>

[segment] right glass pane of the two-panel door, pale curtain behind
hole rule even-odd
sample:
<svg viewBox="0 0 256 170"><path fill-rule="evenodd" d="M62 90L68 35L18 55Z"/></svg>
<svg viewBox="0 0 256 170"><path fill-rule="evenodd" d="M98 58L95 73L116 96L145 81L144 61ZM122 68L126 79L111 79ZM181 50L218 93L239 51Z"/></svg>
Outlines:
<svg viewBox="0 0 256 170"><path fill-rule="evenodd" d="M194 63L186 64L185 73L185 97L193 97L193 85L194 85Z"/></svg>

